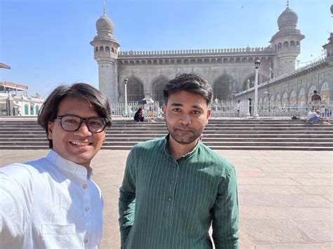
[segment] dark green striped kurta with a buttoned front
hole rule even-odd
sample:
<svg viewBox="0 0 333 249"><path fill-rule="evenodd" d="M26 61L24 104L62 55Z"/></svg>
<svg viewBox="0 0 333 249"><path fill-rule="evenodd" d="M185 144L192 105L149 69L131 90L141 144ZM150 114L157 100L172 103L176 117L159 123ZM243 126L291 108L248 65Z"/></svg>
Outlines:
<svg viewBox="0 0 333 249"><path fill-rule="evenodd" d="M174 159L167 137L136 144L119 196L124 248L238 248L233 164L198 142Z"/></svg>

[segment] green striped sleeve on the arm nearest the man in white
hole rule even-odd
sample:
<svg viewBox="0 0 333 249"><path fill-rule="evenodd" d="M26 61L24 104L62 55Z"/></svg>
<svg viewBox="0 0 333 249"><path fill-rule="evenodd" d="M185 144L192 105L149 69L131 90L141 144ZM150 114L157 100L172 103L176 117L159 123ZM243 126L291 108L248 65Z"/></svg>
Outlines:
<svg viewBox="0 0 333 249"><path fill-rule="evenodd" d="M121 245L123 246L134 222L136 201L136 177L133 149L126 161L124 180L119 191L119 229Z"/></svg>

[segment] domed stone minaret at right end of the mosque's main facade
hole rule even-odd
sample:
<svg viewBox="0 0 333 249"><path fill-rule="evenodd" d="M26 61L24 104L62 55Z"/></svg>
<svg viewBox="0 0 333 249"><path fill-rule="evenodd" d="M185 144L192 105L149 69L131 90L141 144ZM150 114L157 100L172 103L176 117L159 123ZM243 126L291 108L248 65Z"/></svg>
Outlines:
<svg viewBox="0 0 333 249"><path fill-rule="evenodd" d="M297 55L301 53L301 40L305 38L299 29L296 29L298 20L299 17L289 8L287 0L287 8L278 18L279 31L270 40L270 46L275 52L273 78L295 69Z"/></svg>

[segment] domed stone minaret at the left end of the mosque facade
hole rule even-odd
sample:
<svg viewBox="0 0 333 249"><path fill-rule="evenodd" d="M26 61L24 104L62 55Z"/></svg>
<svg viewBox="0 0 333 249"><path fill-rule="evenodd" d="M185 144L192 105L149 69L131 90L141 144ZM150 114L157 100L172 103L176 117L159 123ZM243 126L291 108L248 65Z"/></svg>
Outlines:
<svg viewBox="0 0 333 249"><path fill-rule="evenodd" d="M110 101L118 102L119 43L113 37L113 22L107 17L105 0L103 15L96 21L97 36L91 41L93 58L98 63L98 87Z"/></svg>

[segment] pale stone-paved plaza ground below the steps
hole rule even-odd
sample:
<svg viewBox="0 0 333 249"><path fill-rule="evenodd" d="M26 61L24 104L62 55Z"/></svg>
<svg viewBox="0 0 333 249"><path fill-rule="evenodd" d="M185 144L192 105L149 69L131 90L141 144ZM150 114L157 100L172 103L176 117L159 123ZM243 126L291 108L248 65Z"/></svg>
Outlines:
<svg viewBox="0 0 333 249"><path fill-rule="evenodd" d="M218 151L233 161L241 248L333 248L333 152ZM0 166L45 150L0 150ZM93 179L105 199L102 248L119 248L118 189L128 151L102 150Z"/></svg>

